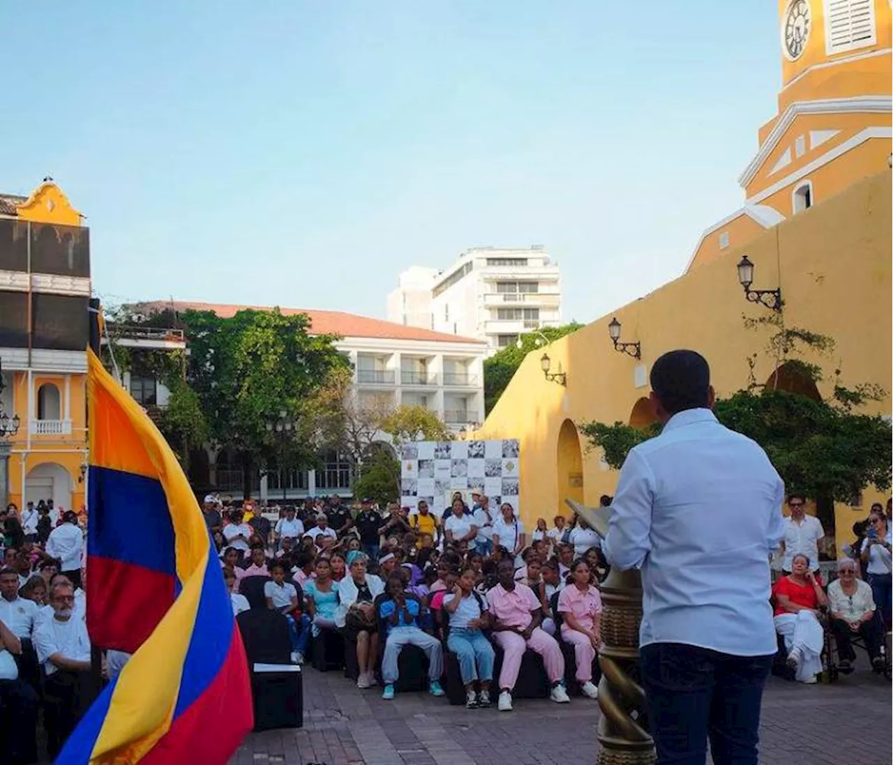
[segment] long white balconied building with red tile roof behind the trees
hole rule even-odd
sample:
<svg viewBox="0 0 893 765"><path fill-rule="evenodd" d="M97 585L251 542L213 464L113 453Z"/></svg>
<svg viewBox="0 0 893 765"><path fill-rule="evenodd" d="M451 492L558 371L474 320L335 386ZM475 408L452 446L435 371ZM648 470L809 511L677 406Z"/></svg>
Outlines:
<svg viewBox="0 0 893 765"><path fill-rule="evenodd" d="M270 310L256 305L208 304L191 302L154 303L131 306L139 312L172 309L213 311L222 318L243 309ZM354 367L352 395L359 409L388 411L405 404L417 404L434 412L448 428L459 433L477 428L484 421L483 361L487 344L479 339L432 331L428 328L370 319L354 313L280 308L285 315L305 313L311 332L341 337L336 343ZM151 332L153 330L149 330ZM135 347L171 347L177 337L169 330L157 330L159 337L140 337L124 332ZM180 334L180 339L182 335ZM188 345L188 337L185 338ZM125 375L125 387L147 409L163 408L167 390L152 379ZM146 394L148 398L146 398ZM387 437L382 434L382 440ZM208 451L208 485L236 493L243 486L244 473L230 450ZM254 475L250 485L255 496L288 500L314 495L351 494L352 466L346 455L326 455L321 470L291 470L284 481L274 473L265 478Z"/></svg>

